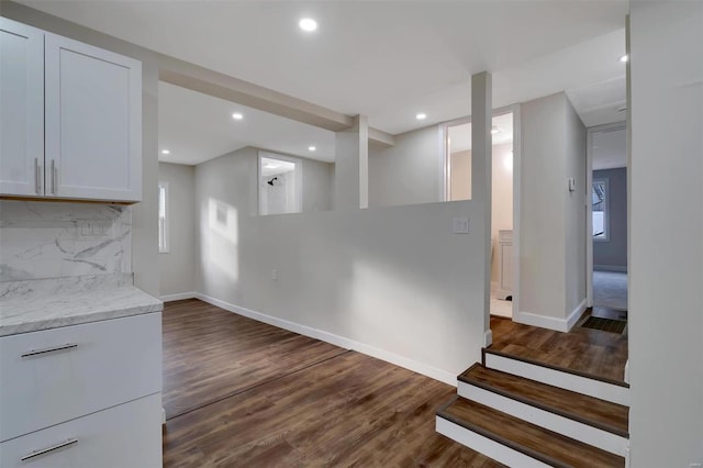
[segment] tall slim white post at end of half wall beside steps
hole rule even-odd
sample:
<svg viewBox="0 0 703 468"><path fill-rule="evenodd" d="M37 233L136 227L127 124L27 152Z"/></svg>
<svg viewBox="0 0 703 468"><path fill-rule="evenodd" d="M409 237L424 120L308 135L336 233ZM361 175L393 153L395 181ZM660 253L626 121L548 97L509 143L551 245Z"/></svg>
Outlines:
<svg viewBox="0 0 703 468"><path fill-rule="evenodd" d="M483 311L484 330L491 327L491 179L492 179L492 77L482 71L471 77L471 200L483 204ZM479 234L479 233L477 233Z"/></svg>

